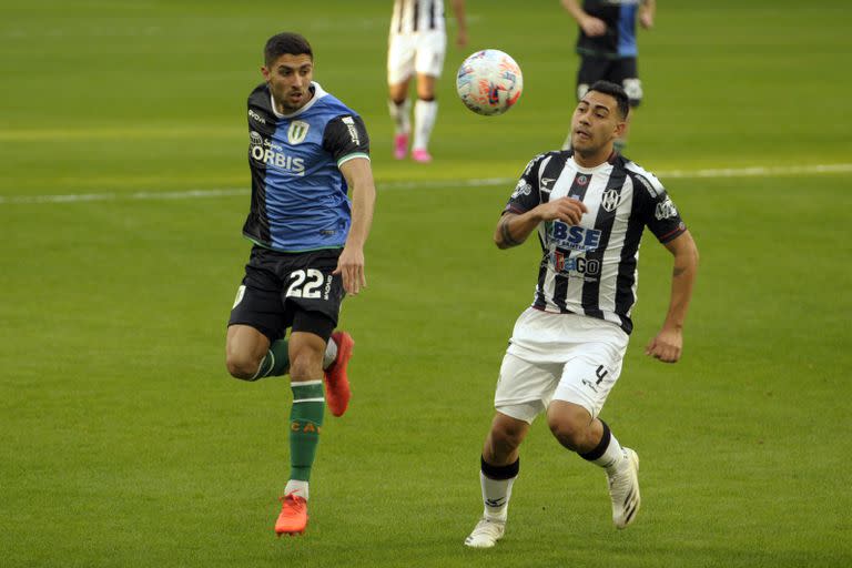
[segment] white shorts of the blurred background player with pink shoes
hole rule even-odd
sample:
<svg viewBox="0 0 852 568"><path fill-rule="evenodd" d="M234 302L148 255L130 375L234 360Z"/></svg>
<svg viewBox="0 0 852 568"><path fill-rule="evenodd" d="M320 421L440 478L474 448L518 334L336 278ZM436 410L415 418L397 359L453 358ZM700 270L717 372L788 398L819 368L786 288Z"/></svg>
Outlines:
<svg viewBox="0 0 852 568"><path fill-rule="evenodd" d="M443 30L392 33L387 47L387 84L407 81L413 74L440 77L447 52Z"/></svg>

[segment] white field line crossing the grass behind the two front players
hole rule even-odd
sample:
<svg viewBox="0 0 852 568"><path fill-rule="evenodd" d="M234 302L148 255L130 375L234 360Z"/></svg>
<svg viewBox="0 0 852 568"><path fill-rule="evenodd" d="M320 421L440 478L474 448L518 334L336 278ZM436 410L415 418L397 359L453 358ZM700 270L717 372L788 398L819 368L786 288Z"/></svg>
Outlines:
<svg viewBox="0 0 852 568"><path fill-rule="evenodd" d="M814 164L814 165L779 165L779 166L751 166L751 168L724 168L707 170L668 170L655 172L663 182L667 179L700 179L700 178L755 178L755 176L784 176L803 174L831 174L852 172L850 164ZM412 182L384 182L377 183L378 190L419 190L428 187L488 187L515 184L515 178L483 178L468 180L432 180ZM247 189L223 187L212 190L185 190L185 191L139 191L134 193L71 193L65 195L0 195L0 205L17 203L79 203L91 201L156 201L156 200L191 200L221 197L232 195L246 195Z"/></svg>

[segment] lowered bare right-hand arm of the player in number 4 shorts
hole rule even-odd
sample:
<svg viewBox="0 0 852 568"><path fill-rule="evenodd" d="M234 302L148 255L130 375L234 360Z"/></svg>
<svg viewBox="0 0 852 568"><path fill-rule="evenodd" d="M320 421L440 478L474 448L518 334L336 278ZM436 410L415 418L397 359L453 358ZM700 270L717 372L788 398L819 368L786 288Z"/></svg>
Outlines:
<svg viewBox="0 0 852 568"><path fill-rule="evenodd" d="M676 363L683 349L683 321L692 297L692 284L698 272L698 247L689 231L666 243L674 256L671 273L671 298L666 321L657 336L645 348L645 354L663 363Z"/></svg>

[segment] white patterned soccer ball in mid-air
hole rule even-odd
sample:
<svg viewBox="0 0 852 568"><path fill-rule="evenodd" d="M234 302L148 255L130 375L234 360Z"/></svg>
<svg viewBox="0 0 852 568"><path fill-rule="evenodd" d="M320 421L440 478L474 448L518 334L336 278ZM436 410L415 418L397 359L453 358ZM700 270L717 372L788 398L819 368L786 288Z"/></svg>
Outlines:
<svg viewBox="0 0 852 568"><path fill-rule="evenodd" d="M471 54L456 75L458 98L465 106L486 116L509 110L523 90L520 68L507 53L496 49Z"/></svg>

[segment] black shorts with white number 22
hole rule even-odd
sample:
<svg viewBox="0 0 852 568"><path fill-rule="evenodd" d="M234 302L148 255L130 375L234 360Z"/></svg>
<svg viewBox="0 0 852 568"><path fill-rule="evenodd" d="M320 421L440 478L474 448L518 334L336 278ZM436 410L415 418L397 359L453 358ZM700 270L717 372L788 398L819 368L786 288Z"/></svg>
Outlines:
<svg viewBox="0 0 852 568"><path fill-rule="evenodd" d="M287 328L328 341L345 295L332 275L342 248L281 253L254 246L227 325L251 325L274 342Z"/></svg>

